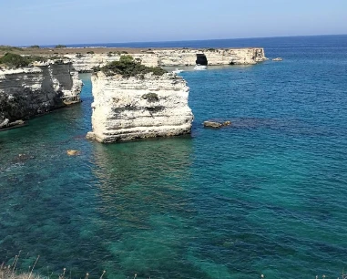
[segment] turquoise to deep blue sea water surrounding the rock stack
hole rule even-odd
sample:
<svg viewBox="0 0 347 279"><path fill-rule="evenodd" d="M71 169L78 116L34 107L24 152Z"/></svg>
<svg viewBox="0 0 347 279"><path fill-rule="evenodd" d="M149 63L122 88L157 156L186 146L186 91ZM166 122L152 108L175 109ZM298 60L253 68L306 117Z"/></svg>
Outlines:
<svg viewBox="0 0 347 279"><path fill-rule="evenodd" d="M0 133L0 261L22 250L22 270L40 254L42 274L93 278L337 277L347 36L301 39L255 41L281 63L183 72L191 137L85 140L87 75L80 106ZM203 129L205 119L233 126Z"/></svg>

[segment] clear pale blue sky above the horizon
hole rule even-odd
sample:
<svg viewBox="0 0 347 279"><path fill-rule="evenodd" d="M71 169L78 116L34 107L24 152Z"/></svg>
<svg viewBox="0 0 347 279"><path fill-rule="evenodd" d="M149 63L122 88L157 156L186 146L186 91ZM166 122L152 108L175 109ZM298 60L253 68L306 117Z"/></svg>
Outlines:
<svg viewBox="0 0 347 279"><path fill-rule="evenodd" d="M0 45L347 34L347 0L0 0Z"/></svg>

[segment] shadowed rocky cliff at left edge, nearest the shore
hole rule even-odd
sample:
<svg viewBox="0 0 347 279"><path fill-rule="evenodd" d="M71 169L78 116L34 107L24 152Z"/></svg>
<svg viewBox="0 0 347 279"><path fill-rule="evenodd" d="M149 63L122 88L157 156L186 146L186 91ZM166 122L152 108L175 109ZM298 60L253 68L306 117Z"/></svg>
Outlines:
<svg viewBox="0 0 347 279"><path fill-rule="evenodd" d="M0 126L80 102L82 81L70 62L0 69ZM1 127L0 127L1 129Z"/></svg>

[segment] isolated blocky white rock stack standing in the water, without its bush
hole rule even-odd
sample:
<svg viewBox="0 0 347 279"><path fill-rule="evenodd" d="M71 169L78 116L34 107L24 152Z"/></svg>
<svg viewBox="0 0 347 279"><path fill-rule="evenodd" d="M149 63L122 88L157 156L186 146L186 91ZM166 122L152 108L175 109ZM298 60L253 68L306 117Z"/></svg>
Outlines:
<svg viewBox="0 0 347 279"><path fill-rule="evenodd" d="M187 134L193 115L189 88L174 74L145 78L92 76L93 131L87 138L100 142Z"/></svg>

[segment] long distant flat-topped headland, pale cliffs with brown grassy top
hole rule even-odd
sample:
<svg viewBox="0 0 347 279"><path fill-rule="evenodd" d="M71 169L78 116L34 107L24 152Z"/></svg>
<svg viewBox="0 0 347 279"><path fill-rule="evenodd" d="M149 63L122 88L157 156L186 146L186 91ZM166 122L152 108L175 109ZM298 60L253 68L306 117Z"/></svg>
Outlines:
<svg viewBox="0 0 347 279"><path fill-rule="evenodd" d="M228 48L115 48L115 47L63 47L15 48L16 54L25 56L60 56L71 60L78 72L92 72L93 67L103 67L131 55L148 67L182 67L196 65L197 56L207 57L210 66L254 65L267 60L263 47ZM5 54L1 51L0 56Z"/></svg>

